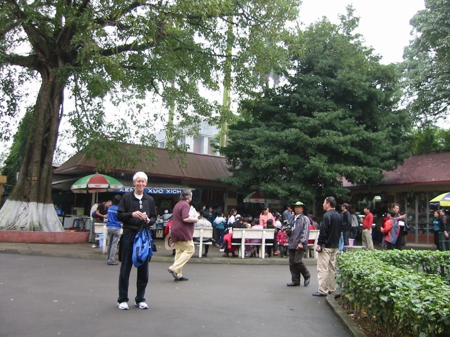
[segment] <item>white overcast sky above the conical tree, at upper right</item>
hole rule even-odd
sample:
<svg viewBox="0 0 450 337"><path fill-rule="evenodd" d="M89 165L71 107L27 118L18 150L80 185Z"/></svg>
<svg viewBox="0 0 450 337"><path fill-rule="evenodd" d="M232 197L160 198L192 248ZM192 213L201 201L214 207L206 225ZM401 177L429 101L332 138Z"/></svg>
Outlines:
<svg viewBox="0 0 450 337"><path fill-rule="evenodd" d="M326 16L338 22L338 15L345 14L345 7L352 4L355 16L359 16L358 33L366 45L382 56L384 64L402 61L403 48L409 44L412 27L409 20L425 8L423 0L303 0L300 21L306 25Z"/></svg>

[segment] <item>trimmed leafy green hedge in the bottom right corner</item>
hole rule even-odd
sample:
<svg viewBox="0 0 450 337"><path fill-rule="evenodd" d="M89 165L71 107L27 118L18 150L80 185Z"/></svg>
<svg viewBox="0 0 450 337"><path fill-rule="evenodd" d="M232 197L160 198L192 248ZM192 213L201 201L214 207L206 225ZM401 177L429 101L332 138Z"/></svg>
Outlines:
<svg viewBox="0 0 450 337"><path fill-rule="evenodd" d="M355 314L382 336L450 336L450 252L339 254L337 284Z"/></svg>

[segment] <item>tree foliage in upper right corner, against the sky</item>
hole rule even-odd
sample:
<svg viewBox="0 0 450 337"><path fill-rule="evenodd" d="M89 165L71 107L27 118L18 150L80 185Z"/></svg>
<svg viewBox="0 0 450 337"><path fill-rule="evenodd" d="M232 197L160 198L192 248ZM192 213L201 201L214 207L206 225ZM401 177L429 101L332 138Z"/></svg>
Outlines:
<svg viewBox="0 0 450 337"><path fill-rule="evenodd" d="M425 0L410 20L415 36L404 50L410 110L419 120L448 116L450 1Z"/></svg>

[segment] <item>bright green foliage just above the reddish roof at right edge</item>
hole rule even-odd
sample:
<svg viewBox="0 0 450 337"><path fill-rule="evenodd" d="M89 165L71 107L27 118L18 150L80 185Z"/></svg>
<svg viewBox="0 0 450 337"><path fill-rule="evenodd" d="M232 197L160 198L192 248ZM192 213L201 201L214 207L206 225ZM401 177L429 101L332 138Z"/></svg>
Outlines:
<svg viewBox="0 0 450 337"><path fill-rule="evenodd" d="M425 123L412 131L410 142L413 155L450 151L450 130Z"/></svg>

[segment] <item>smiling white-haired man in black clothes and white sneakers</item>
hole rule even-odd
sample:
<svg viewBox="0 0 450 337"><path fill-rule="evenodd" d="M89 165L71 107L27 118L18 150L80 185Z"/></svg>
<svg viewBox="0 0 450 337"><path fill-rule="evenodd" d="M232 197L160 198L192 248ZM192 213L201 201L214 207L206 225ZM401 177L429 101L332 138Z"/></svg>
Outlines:
<svg viewBox="0 0 450 337"><path fill-rule="evenodd" d="M133 243L136 233L144 226L151 226L156 222L156 211L154 200L144 193L147 185L147 175L144 172L137 172L133 177L134 191L123 195L117 210L117 220L123 223L123 233L120 237L119 247L119 296L117 299L118 308L127 310L128 307L128 284L129 274L133 266L132 254ZM136 297L135 304L140 309L147 309L145 303L145 288L148 283L148 261L137 267Z"/></svg>

